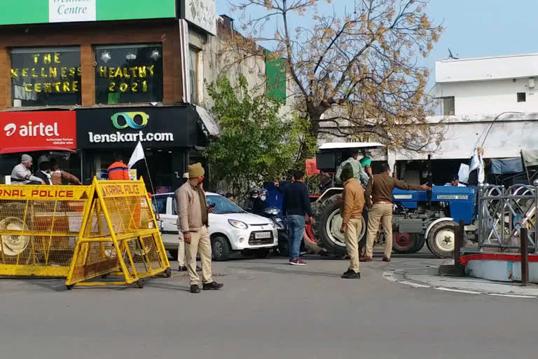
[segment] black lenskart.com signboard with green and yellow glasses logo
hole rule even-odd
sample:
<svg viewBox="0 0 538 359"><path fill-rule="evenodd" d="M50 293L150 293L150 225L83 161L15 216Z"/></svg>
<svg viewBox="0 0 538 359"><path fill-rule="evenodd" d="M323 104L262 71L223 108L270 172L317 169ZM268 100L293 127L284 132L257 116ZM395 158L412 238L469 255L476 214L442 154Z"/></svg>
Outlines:
<svg viewBox="0 0 538 359"><path fill-rule="evenodd" d="M115 107L76 110L79 149L191 147L197 142L193 107Z"/></svg>

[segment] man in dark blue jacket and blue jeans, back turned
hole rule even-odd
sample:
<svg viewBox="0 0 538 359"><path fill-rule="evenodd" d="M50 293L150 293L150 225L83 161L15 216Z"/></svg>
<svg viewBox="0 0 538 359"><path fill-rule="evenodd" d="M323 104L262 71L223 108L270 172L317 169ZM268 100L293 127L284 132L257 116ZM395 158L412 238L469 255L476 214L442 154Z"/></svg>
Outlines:
<svg viewBox="0 0 538 359"><path fill-rule="evenodd" d="M308 188L304 182L305 172L295 172L294 182L284 188L282 199L282 215L286 217L288 226L289 264L294 266L304 266L306 264L299 257L299 250L303 241L305 224L307 220L310 222L310 217L312 216L310 196L308 196ZM308 217L305 217L307 215Z"/></svg>

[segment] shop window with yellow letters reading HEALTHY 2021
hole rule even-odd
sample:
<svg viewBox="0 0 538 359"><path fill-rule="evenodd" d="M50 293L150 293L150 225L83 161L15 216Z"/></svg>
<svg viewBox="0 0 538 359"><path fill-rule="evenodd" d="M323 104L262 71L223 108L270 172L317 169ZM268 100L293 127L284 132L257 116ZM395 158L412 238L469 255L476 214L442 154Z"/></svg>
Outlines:
<svg viewBox="0 0 538 359"><path fill-rule="evenodd" d="M96 46L95 102L163 101L163 46Z"/></svg>

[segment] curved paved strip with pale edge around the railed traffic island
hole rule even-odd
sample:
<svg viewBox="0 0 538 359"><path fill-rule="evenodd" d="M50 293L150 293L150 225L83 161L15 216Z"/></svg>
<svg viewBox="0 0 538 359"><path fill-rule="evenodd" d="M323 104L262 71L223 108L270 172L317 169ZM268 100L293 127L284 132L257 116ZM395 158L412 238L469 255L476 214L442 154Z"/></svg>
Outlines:
<svg viewBox="0 0 538 359"><path fill-rule="evenodd" d="M439 266L418 264L413 268L385 271L383 278L411 287L465 294L482 294L496 297L538 299L538 285L521 287L520 283L503 283L491 280L439 275Z"/></svg>

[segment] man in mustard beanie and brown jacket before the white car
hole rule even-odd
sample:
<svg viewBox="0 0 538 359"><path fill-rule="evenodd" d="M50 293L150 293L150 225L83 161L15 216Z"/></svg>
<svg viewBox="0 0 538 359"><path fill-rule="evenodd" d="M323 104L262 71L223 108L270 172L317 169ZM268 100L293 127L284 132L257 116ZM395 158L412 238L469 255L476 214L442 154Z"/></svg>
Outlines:
<svg viewBox="0 0 538 359"><path fill-rule="evenodd" d="M188 166L188 181L176 192L179 208L178 224L186 244L186 264L191 279L191 293L200 293L200 277L196 273L196 255L200 251L202 262L203 290L218 290L223 287L212 279L211 241L207 231L208 213L213 208L207 206L205 192L202 189L205 170L200 163Z"/></svg>

